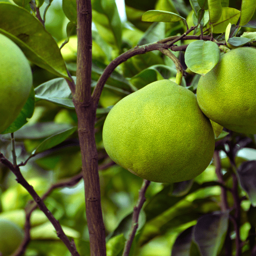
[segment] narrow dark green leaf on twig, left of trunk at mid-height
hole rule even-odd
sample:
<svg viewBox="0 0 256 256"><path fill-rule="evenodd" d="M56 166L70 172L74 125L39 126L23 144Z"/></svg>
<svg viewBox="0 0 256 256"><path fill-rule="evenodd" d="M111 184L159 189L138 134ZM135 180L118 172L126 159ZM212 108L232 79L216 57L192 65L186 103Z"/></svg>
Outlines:
<svg viewBox="0 0 256 256"><path fill-rule="evenodd" d="M72 135L77 130L77 127L68 128L62 132L54 134L46 138L42 143L37 146L37 148L32 152L32 154L38 154L40 152L46 151L54 146L59 145L61 142L66 140L70 135Z"/></svg>

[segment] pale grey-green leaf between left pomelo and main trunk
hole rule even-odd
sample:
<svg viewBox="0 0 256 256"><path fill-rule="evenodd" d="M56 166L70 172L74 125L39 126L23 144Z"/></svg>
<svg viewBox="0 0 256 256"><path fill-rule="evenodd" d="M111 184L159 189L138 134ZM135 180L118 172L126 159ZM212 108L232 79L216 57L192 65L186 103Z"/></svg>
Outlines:
<svg viewBox="0 0 256 256"><path fill-rule="evenodd" d="M73 76L74 81L76 77ZM46 100L67 108L74 108L72 93L64 78L55 78L44 82L35 89L37 101Z"/></svg>

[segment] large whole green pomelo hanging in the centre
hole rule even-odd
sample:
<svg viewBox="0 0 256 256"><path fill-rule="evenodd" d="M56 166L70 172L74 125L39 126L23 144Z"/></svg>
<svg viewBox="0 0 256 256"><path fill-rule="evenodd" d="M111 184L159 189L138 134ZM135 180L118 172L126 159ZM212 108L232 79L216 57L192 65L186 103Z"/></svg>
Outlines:
<svg viewBox="0 0 256 256"><path fill-rule="evenodd" d="M154 182L190 180L214 152L213 129L196 96L170 80L152 82L119 101L102 136L114 162Z"/></svg>

